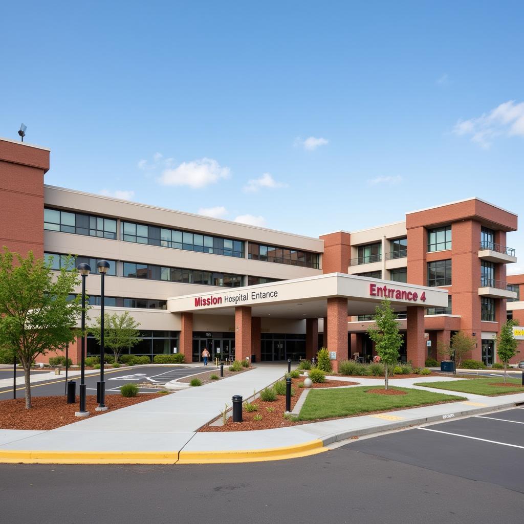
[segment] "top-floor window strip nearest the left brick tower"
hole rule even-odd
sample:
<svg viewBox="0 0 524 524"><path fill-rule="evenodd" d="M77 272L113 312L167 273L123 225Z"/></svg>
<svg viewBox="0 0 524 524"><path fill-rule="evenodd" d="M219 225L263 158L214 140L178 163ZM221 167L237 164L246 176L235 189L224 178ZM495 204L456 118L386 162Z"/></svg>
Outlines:
<svg viewBox="0 0 524 524"><path fill-rule="evenodd" d="M43 228L48 231L116 239L115 219L59 209L43 210Z"/></svg>

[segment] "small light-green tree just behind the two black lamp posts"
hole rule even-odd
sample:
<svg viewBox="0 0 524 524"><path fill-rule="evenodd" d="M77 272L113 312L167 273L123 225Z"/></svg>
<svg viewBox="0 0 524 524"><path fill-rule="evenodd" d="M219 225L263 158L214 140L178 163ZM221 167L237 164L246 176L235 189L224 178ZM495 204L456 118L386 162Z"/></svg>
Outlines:
<svg viewBox="0 0 524 524"><path fill-rule="evenodd" d="M102 325L101 316L97 316L95 325L89 328L89 331L93 333L95 339L100 344ZM139 322L129 314L129 311L125 311L119 315L114 313L110 315L105 313L104 315L104 346L113 351L115 355L115 364L118 363L118 357L120 356L124 347L136 346L142 341L139 335L138 327Z"/></svg>

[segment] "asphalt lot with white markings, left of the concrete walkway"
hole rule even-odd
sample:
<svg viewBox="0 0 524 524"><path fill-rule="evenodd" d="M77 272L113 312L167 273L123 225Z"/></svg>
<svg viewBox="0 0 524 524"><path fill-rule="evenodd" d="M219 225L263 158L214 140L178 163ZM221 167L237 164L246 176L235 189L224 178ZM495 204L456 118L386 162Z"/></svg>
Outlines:
<svg viewBox="0 0 524 524"><path fill-rule="evenodd" d="M208 366L204 369L204 366L133 366L126 367L124 369L105 369L104 380L105 390L107 394L118 394L120 388L127 383L150 383L151 387L140 387L140 392L150 393L156 391L159 386L166 384L170 380L177 378L187 377L194 375L195 373L202 373L204 370L209 371L215 369L214 366ZM20 375L18 375L20 373ZM42 372L36 372L42 373ZM49 369L44 373L49 373ZM23 376L23 372L18 372L18 376ZM0 374L0 378L12 378L13 370L10 370L10 374L4 372ZM69 377L70 380L74 380L77 383L77 394L80 385L80 376ZM95 374L85 375L85 384L88 395L96 394L96 383L100 380L100 372ZM17 396L24 395L24 386L17 386ZM37 397L49 396L49 395L64 395L65 394L65 373L62 369L60 377L56 379L50 379L43 382L36 382L31 384L31 395ZM0 388L0 400L13 397L13 386L5 386Z"/></svg>

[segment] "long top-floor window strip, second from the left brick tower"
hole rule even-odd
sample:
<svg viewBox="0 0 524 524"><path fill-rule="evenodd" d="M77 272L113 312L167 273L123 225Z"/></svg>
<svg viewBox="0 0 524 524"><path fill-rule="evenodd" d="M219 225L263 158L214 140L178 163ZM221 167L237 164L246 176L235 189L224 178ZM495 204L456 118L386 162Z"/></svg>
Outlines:
<svg viewBox="0 0 524 524"><path fill-rule="evenodd" d="M121 238L125 242L185 249L228 257L244 257L244 242L233 238L222 238L124 221L121 222L120 228Z"/></svg>

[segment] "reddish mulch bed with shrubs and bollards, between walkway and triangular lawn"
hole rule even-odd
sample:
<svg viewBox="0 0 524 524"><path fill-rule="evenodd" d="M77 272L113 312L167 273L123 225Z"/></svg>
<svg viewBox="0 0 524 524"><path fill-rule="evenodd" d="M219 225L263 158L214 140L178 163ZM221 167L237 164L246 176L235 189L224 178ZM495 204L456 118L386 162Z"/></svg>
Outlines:
<svg viewBox="0 0 524 524"><path fill-rule="evenodd" d="M294 389L294 396L291 397L291 411L293 411L294 406L298 402L300 395L303 391L303 388L299 388L298 384L303 382L303 378L293 378L291 382L291 387ZM320 389L320 388L329 388L329 387L340 387L340 386L353 386L357 385L358 382L343 382L341 380L326 380L323 384L313 384L312 388L306 389ZM212 426L206 424L199 431L252 431L259 429L271 429L271 428L286 428L291 425L305 424L310 421L304 422L293 422L284 418L284 412L286 411L286 397L284 395L277 395L277 400L273 402L265 402L257 398L253 401L254 404L258 406L257 411L248 413L245 407L242 410L243 422L233 422L233 419L230 417L227 419L225 425L221 426ZM269 411L268 409L269 408ZM272 410L272 412L271 412ZM254 420L257 415L262 416L262 420ZM220 419L220 417L217 417ZM215 419L216 420L216 419Z"/></svg>

